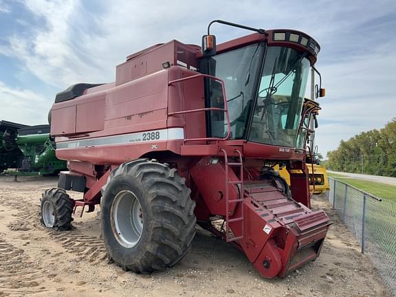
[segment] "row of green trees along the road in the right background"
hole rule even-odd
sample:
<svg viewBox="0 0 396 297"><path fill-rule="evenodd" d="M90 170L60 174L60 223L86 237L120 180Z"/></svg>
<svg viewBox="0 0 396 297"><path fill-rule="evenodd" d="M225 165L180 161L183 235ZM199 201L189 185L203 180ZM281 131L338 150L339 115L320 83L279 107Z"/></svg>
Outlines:
<svg viewBox="0 0 396 297"><path fill-rule="evenodd" d="M384 128L341 140L327 153L327 168L349 173L396 177L396 118Z"/></svg>

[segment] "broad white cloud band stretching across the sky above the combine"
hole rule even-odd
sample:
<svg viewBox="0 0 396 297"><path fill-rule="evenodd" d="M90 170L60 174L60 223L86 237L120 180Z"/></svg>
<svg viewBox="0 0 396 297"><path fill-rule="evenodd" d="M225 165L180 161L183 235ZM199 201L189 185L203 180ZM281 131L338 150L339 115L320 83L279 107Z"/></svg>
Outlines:
<svg viewBox="0 0 396 297"><path fill-rule="evenodd" d="M327 41L351 25L350 20L340 19L338 12L379 11L375 5L364 9L345 4L341 9L331 1L307 9L304 5L283 8L272 1L198 1L182 5L179 1L148 4L121 0L102 3L102 12L97 14L91 14L77 0L32 0L25 1L25 5L45 20L46 26L36 28L32 39L13 36L12 52L32 74L56 87L82 80L111 80L116 64L128 54L155 43L170 39L199 43L212 19L264 28L297 28ZM328 5L329 9L321 5ZM214 25L212 30L219 41L247 33L222 25Z"/></svg>

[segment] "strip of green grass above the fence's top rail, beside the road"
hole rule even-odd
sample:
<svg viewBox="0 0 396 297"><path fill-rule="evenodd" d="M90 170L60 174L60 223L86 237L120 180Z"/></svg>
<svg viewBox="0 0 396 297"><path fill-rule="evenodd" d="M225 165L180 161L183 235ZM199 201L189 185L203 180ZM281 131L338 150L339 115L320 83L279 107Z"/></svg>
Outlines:
<svg viewBox="0 0 396 297"><path fill-rule="evenodd" d="M331 177L334 177L335 179L339 179L345 184L354 186L355 188L358 188L364 192L368 192L379 198L396 200L396 186L382 184L376 181L344 178L344 176L342 175L338 175L338 176L331 175Z"/></svg>

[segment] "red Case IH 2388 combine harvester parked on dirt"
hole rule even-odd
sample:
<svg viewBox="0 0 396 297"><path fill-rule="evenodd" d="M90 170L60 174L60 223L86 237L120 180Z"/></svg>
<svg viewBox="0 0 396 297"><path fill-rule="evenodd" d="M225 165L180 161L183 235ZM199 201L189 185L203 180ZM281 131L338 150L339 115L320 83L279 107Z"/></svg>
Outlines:
<svg viewBox="0 0 396 297"><path fill-rule="evenodd" d="M215 22L255 33L216 45ZM330 225L310 209L305 165L320 47L295 30L212 23L202 47L154 45L118 65L115 83L56 95L51 134L69 171L43 194L41 219L65 230L77 207L100 204L109 257L137 273L181 261L197 223L265 278L284 277L318 257Z"/></svg>

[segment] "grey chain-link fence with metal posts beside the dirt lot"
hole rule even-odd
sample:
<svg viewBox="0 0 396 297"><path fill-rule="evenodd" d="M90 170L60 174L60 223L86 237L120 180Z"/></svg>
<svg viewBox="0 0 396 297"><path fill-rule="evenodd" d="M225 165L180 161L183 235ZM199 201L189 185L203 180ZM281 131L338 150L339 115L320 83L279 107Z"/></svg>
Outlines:
<svg viewBox="0 0 396 297"><path fill-rule="evenodd" d="M396 296L396 200L375 197L330 177L329 184L329 202Z"/></svg>

